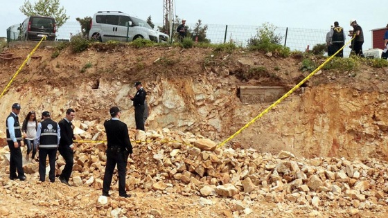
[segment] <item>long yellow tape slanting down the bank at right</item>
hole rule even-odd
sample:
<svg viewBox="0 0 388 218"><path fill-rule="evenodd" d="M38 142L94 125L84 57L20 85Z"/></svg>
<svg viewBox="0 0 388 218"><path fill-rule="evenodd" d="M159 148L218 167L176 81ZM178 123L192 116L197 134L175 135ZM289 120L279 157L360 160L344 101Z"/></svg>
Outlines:
<svg viewBox="0 0 388 218"><path fill-rule="evenodd" d="M319 71L322 66L324 66L325 64L327 64L330 60L333 59L333 57L335 57L335 55L337 55L337 53L340 53L340 51L342 51L345 46L347 46L349 43L351 43L354 39L354 35L353 35L353 38L347 42L346 44L344 44L344 46L342 46L342 48L340 48L340 50L338 50L336 53L334 53L333 55L331 55L330 57L328 57L328 59L323 63L321 64L320 66L317 67L317 69L315 69L315 71L312 71L312 73L310 73L308 76L306 76L306 78L304 78L301 82L299 82L294 88L292 88L290 91L288 91L288 93L285 93L284 96L281 96L281 98L279 98L278 100L276 100L276 102L274 102L272 105L270 105L270 107L267 107L267 109L265 109L263 112L261 112L258 116L256 116L256 118L254 118L253 120L249 121L244 127L242 127L241 129L238 129L238 131L236 131L235 134L231 135L229 138L227 138L227 140L224 140L222 143L220 143L220 145L217 145L217 148L218 147L222 147L224 146L229 140L231 140L232 138L234 138L235 136L237 136L238 134L241 133L241 131L243 131L244 129L246 129L247 127L249 127L250 125L252 125L254 122L256 122L256 120L258 120L258 118L261 118L265 113L267 113L268 111L270 111L270 109L272 109L273 107L275 107L276 105L279 105L279 103L284 100L285 98L287 98L288 96L290 96L291 93L293 93L295 90L297 90L301 84L303 84L304 82L306 82L308 79L310 79L312 77L312 75L314 75L315 73L317 73L317 71Z"/></svg>

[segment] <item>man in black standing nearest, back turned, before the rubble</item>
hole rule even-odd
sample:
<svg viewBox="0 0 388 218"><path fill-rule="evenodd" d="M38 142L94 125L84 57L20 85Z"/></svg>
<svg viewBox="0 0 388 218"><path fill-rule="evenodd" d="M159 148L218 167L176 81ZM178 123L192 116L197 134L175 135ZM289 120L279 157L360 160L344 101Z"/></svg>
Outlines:
<svg viewBox="0 0 388 218"><path fill-rule="evenodd" d="M118 107L109 110L110 120L105 120L104 127L107 133L107 164L105 166L103 195L109 197L110 183L114 167L117 164L118 171L118 194L120 197L131 197L125 191L125 174L127 172L127 158L132 158L132 145L128 135L128 127L121 122L121 111Z"/></svg>

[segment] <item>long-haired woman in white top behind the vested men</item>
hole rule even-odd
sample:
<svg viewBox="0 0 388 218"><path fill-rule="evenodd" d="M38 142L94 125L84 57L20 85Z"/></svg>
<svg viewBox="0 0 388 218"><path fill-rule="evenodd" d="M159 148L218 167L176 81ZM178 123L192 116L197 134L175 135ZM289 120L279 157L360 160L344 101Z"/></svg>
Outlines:
<svg viewBox="0 0 388 218"><path fill-rule="evenodd" d="M35 111L28 112L26 118L23 121L23 125L21 126L21 131L23 132L24 144L27 145L27 154L26 160L30 159L30 152L33 151L32 159L35 158L37 145L35 144L36 138L36 130L37 130L37 120Z"/></svg>

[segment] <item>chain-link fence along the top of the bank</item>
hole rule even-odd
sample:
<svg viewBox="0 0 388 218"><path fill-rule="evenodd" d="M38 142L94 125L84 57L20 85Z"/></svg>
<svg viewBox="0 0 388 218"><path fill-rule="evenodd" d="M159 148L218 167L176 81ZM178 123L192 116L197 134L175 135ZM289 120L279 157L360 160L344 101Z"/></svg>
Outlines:
<svg viewBox="0 0 388 218"><path fill-rule="evenodd" d="M162 24L154 23L155 28L162 26ZM195 24L188 24L189 30L192 30ZM206 38L210 39L213 44L220 44L224 42L233 42L238 46L247 46L249 39L254 37L260 26L241 26L241 25L222 25L222 24L207 24ZM7 30L8 42L17 40L19 24L10 26ZM288 46L291 51L306 51L310 50L316 44L326 43L326 33L328 30L307 29L307 28L289 28L277 27L274 30L275 35L279 35L282 41L281 44ZM81 32L80 24L78 22L67 22L61 26L56 35L57 39L70 39L72 35ZM350 37L348 38L350 40ZM344 48L344 56L349 55L350 48Z"/></svg>

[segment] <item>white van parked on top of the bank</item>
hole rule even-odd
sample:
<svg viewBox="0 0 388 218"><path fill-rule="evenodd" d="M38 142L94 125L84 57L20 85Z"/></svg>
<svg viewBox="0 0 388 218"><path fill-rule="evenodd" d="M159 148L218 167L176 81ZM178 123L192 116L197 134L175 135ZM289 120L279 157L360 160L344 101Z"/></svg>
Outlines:
<svg viewBox="0 0 388 218"><path fill-rule="evenodd" d="M146 21L130 17L121 11L99 11L91 19L89 39L131 42L134 39L168 42L168 35L153 30Z"/></svg>

